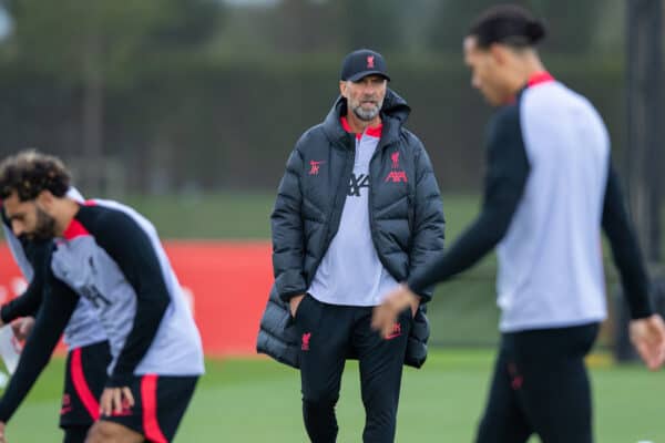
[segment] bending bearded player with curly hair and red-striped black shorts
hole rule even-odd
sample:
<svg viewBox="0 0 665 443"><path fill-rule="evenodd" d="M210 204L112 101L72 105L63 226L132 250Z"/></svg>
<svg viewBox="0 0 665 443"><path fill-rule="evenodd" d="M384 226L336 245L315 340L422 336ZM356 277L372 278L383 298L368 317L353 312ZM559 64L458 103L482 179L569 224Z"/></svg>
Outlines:
<svg viewBox="0 0 665 443"><path fill-rule="evenodd" d="M115 202L70 198L52 156L0 165L0 198L16 236L54 239L42 306L0 403L9 420L49 361L80 298L106 332L112 361L88 442L168 442L203 373L203 350L152 224Z"/></svg>

